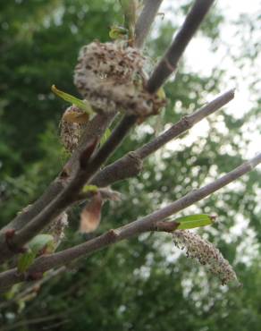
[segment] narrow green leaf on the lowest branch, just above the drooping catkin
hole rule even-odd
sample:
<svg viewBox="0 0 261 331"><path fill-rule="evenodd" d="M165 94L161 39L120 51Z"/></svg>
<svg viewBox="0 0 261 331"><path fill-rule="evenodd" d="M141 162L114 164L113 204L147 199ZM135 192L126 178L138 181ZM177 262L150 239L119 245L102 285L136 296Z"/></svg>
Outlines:
<svg viewBox="0 0 261 331"><path fill-rule="evenodd" d="M186 230L200 226L212 225L214 223L214 219L214 216L198 214L176 218L175 222L180 223L177 230Z"/></svg>

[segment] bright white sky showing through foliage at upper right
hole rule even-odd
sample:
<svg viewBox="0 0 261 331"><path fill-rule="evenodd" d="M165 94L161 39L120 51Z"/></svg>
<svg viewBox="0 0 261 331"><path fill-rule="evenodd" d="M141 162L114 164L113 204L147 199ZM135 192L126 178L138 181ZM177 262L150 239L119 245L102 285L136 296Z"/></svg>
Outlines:
<svg viewBox="0 0 261 331"><path fill-rule="evenodd" d="M186 4L188 1L172 2L171 0L164 0L161 7L161 12L164 12L166 20L179 21L183 18L177 18L175 15L175 8L178 5ZM261 55L256 61L255 68L251 67L251 64L246 64L243 69L239 68L239 64L235 64L232 60L232 55L228 54L228 47L232 47L232 53L237 53L237 48L240 52L240 37L235 36L235 26L232 21L236 21L240 18L241 14L256 14L261 11L260 0L219 0L215 2L215 5L225 13L225 21L222 23L221 30L221 46L213 53L210 49L209 40L206 38L194 38L189 44L186 50L185 56L187 59L187 67L189 71L198 72L201 75L209 75L213 68L219 67L226 72L225 80L220 84L220 91L223 92L227 89L236 88L236 98L227 107L227 113L241 117L246 114L254 105L253 92L249 87L254 79L251 72L261 72ZM241 27L242 29L243 27ZM244 32L244 31L240 31ZM257 40L261 40L261 30L255 31L257 33ZM259 65L258 65L259 64ZM260 86L261 92L261 86ZM208 96L207 101L211 100L215 96ZM261 114L261 110L260 110ZM260 152L261 141L261 116L258 116L257 122L252 123L250 126L244 127L246 137L251 138L251 143L248 145L248 150L244 151L245 157L253 157L257 152ZM182 141L184 143L191 143L195 138L206 135L207 130L210 128L207 126L206 121L202 121L192 130L192 134L187 138L188 141ZM174 142L175 144L175 142ZM177 144L178 145L178 144ZM175 148L177 146L175 145Z"/></svg>

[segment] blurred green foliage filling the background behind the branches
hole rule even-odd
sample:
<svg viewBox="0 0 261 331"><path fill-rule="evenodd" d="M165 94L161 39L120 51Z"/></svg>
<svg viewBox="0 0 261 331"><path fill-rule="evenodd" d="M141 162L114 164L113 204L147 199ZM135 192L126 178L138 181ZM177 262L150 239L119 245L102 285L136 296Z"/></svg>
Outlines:
<svg viewBox="0 0 261 331"><path fill-rule="evenodd" d="M181 7L181 13L187 10L186 5ZM95 38L108 40L109 27L119 22L120 7L113 0L0 3L1 225L36 199L63 165L58 133L67 105L54 98L52 84L79 96L72 73L80 47ZM222 22L222 14L213 11L202 35L217 42ZM177 29L169 21L161 25L146 48L155 58ZM186 72L182 61L175 81L165 86L169 104L164 114L136 128L110 161L153 137L156 123L161 122L162 130L202 106L208 93L220 91L222 80L221 70L199 77ZM239 130L245 120L251 121L251 116L235 120L224 109L207 119L208 134L189 146L179 140L177 150L170 145L149 157L138 178L114 185L123 194L122 202L105 204L97 233L146 215L239 165L240 146L234 138L245 141ZM226 128L223 132L220 122ZM73 264L67 273L44 284L38 295L16 300L24 285L15 286L9 301L6 296L0 301L0 330L259 331L259 178L253 172L190 209L218 215L217 225L200 232L234 264L243 288L221 286L202 267L177 255L171 238L146 234ZM83 240L77 233L79 210L70 214L62 248ZM233 229L242 220L247 227L236 235Z"/></svg>

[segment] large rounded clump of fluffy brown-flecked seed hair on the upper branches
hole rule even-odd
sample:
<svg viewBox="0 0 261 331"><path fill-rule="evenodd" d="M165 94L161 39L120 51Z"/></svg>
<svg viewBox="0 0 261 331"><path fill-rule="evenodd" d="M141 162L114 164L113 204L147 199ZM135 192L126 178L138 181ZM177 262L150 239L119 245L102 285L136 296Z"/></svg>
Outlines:
<svg viewBox="0 0 261 331"><path fill-rule="evenodd" d="M97 111L158 114L165 100L144 89L145 64L139 50L123 42L92 42L80 50L74 83Z"/></svg>

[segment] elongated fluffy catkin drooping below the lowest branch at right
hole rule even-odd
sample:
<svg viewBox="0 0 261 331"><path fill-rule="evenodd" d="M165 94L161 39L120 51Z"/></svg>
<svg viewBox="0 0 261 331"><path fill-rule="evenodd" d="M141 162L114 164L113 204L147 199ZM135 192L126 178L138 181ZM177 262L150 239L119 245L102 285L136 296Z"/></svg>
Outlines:
<svg viewBox="0 0 261 331"><path fill-rule="evenodd" d="M223 258L222 253L211 242L202 239L197 233L184 230L174 231L173 242L176 247L186 250L188 258L197 259L201 265L217 276L222 284L231 281L239 284L229 261Z"/></svg>

